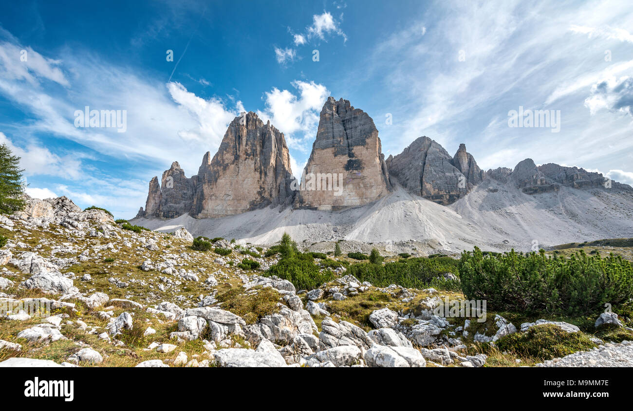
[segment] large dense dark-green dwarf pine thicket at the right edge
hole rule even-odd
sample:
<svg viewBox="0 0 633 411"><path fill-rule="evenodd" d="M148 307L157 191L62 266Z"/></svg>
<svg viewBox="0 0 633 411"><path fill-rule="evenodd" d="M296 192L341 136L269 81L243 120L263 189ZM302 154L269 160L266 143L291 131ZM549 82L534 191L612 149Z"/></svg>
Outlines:
<svg viewBox="0 0 633 411"><path fill-rule="evenodd" d="M589 315L604 310L605 303L625 309L633 297L630 262L582 250L570 258L542 250L484 256L475 247L462 253L460 277L465 296L487 300L489 310Z"/></svg>

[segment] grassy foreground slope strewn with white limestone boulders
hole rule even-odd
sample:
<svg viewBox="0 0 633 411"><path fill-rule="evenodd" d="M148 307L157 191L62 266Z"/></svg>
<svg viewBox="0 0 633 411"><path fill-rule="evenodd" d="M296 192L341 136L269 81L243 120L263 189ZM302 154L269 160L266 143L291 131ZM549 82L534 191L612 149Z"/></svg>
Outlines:
<svg viewBox="0 0 633 411"><path fill-rule="evenodd" d="M215 250L195 251L185 229L116 224L67 198L30 199L25 212L0 217L0 233L9 238L0 305L10 308L0 317L0 366L482 367L489 357L475 343L547 324L579 332L494 314L484 324L439 317L445 297L463 296L378 288L344 267L318 289L297 290L261 275L277 263L265 248L218 239ZM260 269L239 267L246 258ZM20 310L28 305L51 312ZM617 315L599 321L622 326ZM560 364L586 361L570 357Z"/></svg>

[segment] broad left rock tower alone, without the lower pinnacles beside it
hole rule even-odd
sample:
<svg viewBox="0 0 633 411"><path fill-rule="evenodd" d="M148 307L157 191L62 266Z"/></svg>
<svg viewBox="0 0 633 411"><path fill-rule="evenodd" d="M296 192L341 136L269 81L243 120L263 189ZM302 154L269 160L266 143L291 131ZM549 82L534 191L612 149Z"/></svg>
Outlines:
<svg viewBox="0 0 633 411"><path fill-rule="evenodd" d="M253 112L236 117L213 158L197 175L192 213L199 218L239 214L292 203L293 180L284 134Z"/></svg>

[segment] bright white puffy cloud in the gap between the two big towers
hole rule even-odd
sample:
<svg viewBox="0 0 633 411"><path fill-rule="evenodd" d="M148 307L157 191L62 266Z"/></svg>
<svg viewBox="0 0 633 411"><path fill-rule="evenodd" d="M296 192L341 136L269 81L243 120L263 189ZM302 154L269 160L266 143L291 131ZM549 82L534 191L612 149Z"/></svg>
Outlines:
<svg viewBox="0 0 633 411"><path fill-rule="evenodd" d="M264 93L266 108L258 111L258 116L277 127L285 134L289 148L308 151L306 141L314 139L318 127L319 113L329 91L315 82L292 82L299 95L288 90L273 88ZM294 168L293 168L294 171Z"/></svg>

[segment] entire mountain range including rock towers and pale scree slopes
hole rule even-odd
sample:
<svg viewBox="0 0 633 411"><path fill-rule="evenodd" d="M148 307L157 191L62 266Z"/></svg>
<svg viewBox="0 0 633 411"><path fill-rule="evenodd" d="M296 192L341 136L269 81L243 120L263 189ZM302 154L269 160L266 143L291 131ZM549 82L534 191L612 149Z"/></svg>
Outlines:
<svg viewBox="0 0 633 411"><path fill-rule="evenodd" d="M632 210L630 186L584 168L526 158L484 172L465 144L451 156L425 136L385 159L372 118L330 97L301 181L284 134L242 113L197 175L185 177L174 161L160 182L154 177L134 221L252 243L287 231L306 247L346 240L415 253L631 236Z"/></svg>

